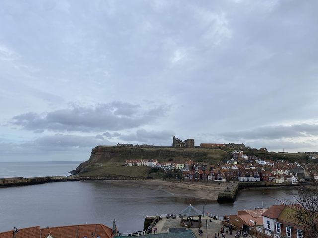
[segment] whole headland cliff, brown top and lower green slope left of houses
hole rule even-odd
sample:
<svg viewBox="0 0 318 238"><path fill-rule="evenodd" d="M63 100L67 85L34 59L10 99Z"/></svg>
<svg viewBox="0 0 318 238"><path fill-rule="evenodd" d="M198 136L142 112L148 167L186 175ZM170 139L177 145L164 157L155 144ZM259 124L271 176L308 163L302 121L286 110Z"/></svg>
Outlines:
<svg viewBox="0 0 318 238"><path fill-rule="evenodd" d="M94 171L93 176L118 175L118 173L124 176L127 175L123 173L126 168L121 167L118 169L118 167L123 166L125 161L129 159L157 159L158 162L193 160L195 162L204 161L215 164L227 156L228 153L220 149L97 146L92 149L89 160L81 163L72 173L82 176L92 176L92 171ZM108 167L108 170L105 167ZM131 167L129 169L129 174L132 174L132 170L137 170L137 168ZM101 170L104 170L104 174L101 173ZM87 172L90 173L88 174ZM141 171L141 173L137 173L133 177L139 177L139 175L141 177L143 175L146 176L146 172Z"/></svg>

